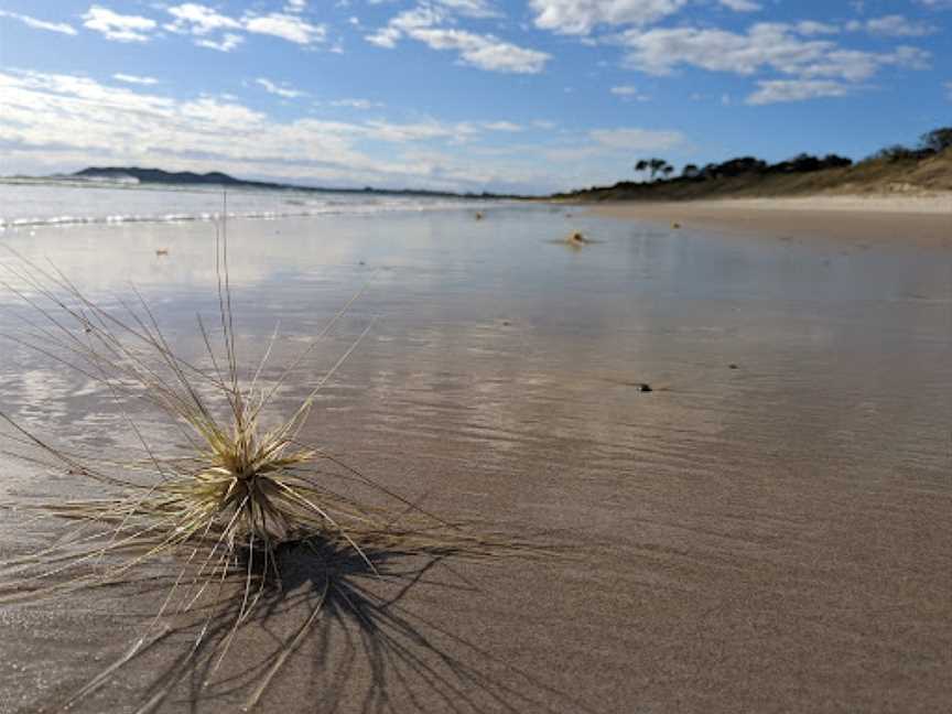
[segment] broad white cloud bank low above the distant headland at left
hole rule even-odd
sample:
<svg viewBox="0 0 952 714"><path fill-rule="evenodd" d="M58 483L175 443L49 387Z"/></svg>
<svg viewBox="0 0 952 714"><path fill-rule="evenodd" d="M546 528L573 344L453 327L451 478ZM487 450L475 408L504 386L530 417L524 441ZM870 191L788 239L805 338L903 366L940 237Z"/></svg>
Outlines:
<svg viewBox="0 0 952 714"><path fill-rule="evenodd" d="M508 122L279 121L236 99L175 99L150 91L87 77L0 71L4 166L34 172L46 166L48 173L95 161L325 185L464 191L545 180L538 167L479 164L468 152L454 156L439 148L508 130ZM391 145L381 152L379 142ZM369 153L371 147L377 153Z"/></svg>

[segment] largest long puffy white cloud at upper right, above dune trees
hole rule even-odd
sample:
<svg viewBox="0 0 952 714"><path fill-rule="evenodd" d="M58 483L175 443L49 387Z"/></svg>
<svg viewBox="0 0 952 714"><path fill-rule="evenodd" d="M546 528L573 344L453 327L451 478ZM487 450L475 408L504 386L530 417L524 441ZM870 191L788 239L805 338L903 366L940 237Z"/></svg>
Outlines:
<svg viewBox="0 0 952 714"><path fill-rule="evenodd" d="M621 42L629 50L628 64L654 75L690 65L739 75L774 69L801 78L862 82L885 65L918 69L929 60L929 53L916 47L891 53L844 50L829 40L799 36L796 26L782 23L758 23L746 34L694 28L629 30Z"/></svg>

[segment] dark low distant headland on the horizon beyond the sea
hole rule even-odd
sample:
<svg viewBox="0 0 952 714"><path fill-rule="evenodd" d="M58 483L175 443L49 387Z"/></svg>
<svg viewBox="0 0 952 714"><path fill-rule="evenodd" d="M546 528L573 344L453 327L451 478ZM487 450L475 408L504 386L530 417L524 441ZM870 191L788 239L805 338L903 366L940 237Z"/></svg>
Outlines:
<svg viewBox="0 0 952 714"><path fill-rule="evenodd" d="M466 193L457 194L444 191L420 191L413 188L318 188L313 186L296 186L293 184L271 183L267 181L245 181L235 178L220 171L195 173L192 171L163 171L162 169L140 169L138 166L90 166L72 174L75 178L95 181L115 181L117 183L134 180L143 184L161 184L173 186L224 186L230 188L260 188L266 191L320 191L322 193L375 193L387 195L445 196L453 198L519 198L520 196Z"/></svg>

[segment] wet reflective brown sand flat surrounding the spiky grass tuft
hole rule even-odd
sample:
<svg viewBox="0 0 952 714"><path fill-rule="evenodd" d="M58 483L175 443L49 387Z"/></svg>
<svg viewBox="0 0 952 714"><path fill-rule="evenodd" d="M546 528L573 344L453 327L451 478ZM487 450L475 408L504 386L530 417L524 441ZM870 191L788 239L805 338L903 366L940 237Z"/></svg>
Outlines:
<svg viewBox="0 0 952 714"><path fill-rule="evenodd" d="M280 314L280 365L375 275L301 377L303 388L380 315L311 440L441 515L575 548L435 564L376 638L342 609L260 711L948 710L952 253L563 213L236 224L248 355ZM553 242L574 230L596 242ZM3 240L102 294L134 279L187 353L194 312L214 307L207 231ZM121 445L101 392L18 350L0 378L4 409ZM0 468L4 500L74 488ZM4 554L47 538L0 523ZM293 592L306 595L306 572ZM0 608L0 712L62 702L128 648L158 597ZM242 635L213 686L186 668L165 711L237 711L255 668L306 616L285 605ZM183 641L78 711L133 711Z"/></svg>

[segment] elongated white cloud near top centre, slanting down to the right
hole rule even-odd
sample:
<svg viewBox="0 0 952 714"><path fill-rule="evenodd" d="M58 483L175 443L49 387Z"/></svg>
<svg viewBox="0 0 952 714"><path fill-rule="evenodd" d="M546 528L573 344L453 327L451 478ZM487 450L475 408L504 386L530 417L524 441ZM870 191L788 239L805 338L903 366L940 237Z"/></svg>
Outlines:
<svg viewBox="0 0 952 714"><path fill-rule="evenodd" d="M444 11L421 6L400 13L387 26L365 39L379 47L390 48L401 37L410 37L433 50L455 50L463 64L488 72L537 74L542 72L551 56L537 50L519 47L490 34L436 26L446 19Z"/></svg>

